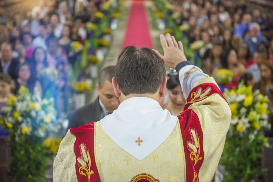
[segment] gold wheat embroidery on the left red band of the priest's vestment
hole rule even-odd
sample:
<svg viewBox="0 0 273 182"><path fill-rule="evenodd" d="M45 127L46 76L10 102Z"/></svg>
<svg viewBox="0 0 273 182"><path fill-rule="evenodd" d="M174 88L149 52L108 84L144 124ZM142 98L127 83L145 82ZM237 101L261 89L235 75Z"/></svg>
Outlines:
<svg viewBox="0 0 273 182"><path fill-rule="evenodd" d="M88 177L88 182L90 182L90 175L94 174L94 171L90 169L91 158L89 155L89 149L86 152L86 146L84 143L79 145L80 147L80 157L77 158L80 174ZM85 172L84 172L85 171Z"/></svg>

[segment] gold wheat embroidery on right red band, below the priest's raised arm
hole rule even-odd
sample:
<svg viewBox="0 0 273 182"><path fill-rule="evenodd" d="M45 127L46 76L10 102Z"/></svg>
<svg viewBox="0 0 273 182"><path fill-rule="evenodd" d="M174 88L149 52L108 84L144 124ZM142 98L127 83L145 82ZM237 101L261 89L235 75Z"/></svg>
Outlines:
<svg viewBox="0 0 273 182"><path fill-rule="evenodd" d="M198 162L198 160L203 160L202 157L199 157L200 155L200 136L198 136L196 130L194 128L190 128L190 135L192 136L191 139L192 141L187 143L188 150L191 152L190 153L190 159L194 161L193 167L195 164ZM197 139L198 138L198 139Z"/></svg>

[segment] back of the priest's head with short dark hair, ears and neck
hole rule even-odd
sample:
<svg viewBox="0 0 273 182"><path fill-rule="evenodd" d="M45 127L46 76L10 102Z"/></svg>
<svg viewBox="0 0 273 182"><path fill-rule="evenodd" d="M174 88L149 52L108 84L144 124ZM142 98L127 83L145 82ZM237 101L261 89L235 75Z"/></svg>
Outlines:
<svg viewBox="0 0 273 182"><path fill-rule="evenodd" d="M112 83L121 101L133 96L152 97L160 101L166 86L164 62L152 49L125 47L118 56Z"/></svg>

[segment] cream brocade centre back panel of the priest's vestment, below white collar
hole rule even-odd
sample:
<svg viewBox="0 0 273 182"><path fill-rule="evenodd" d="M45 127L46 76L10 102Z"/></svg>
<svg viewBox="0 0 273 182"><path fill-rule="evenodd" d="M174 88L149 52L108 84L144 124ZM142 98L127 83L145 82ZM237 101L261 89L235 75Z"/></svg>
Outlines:
<svg viewBox="0 0 273 182"><path fill-rule="evenodd" d="M99 122L95 123L94 145L97 169L103 182L128 182L142 173L150 174L160 182L185 181L184 150L178 123L168 138L141 161L114 143Z"/></svg>

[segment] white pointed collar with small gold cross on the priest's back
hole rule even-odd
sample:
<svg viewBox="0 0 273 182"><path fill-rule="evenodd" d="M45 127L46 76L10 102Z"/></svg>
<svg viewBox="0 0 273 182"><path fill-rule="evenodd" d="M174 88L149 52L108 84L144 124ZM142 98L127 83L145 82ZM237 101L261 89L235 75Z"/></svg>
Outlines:
<svg viewBox="0 0 273 182"><path fill-rule="evenodd" d="M142 160L166 140L177 120L154 99L133 97L123 101L100 123L119 147ZM143 140L140 145L135 142L138 137Z"/></svg>

